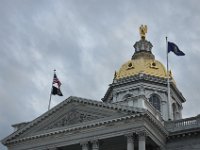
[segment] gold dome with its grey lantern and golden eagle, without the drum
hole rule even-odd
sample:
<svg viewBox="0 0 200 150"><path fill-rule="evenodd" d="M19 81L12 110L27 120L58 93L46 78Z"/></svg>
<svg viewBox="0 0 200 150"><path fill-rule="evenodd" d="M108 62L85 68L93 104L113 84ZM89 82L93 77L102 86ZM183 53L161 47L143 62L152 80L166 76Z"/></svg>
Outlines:
<svg viewBox="0 0 200 150"><path fill-rule="evenodd" d="M135 53L132 59L121 66L115 73L114 79L122 79L140 73L167 78L167 70L161 62L155 60L151 52L153 45L146 40L147 26L141 25L139 31L141 39L133 45ZM169 72L169 76L173 80L171 72Z"/></svg>

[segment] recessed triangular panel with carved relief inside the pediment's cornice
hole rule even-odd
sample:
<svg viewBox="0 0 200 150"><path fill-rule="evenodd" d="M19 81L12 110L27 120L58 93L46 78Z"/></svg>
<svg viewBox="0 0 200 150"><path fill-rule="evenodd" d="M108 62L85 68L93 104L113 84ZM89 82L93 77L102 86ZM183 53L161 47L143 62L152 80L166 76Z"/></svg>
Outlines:
<svg viewBox="0 0 200 150"><path fill-rule="evenodd" d="M109 118L110 116L120 114L121 113L117 111L72 101L71 103L65 105L62 109L50 114L48 118L29 129L29 131L20 137L81 126L91 121L94 122L95 120L98 121L99 119Z"/></svg>

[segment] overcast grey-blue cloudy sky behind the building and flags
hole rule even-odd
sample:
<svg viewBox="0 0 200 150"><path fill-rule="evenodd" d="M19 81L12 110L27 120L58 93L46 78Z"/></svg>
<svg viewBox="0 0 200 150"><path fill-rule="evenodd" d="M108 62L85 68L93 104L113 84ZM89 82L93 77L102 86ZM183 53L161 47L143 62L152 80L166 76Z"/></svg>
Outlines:
<svg viewBox="0 0 200 150"><path fill-rule="evenodd" d="M70 95L100 100L141 24L156 59L166 64L165 36L186 53L170 54L170 68L183 117L199 114L199 0L0 0L0 139L47 111L54 68L64 97L52 106Z"/></svg>

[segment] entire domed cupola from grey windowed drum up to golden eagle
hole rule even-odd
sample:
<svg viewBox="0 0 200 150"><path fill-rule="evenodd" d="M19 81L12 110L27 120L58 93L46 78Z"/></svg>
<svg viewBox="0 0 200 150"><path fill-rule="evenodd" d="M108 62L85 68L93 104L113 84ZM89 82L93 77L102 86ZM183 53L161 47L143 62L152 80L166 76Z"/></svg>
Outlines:
<svg viewBox="0 0 200 150"><path fill-rule="evenodd" d="M155 59L151 51L153 45L145 36L147 26L142 25L139 31L141 39L133 46L132 58L115 72L102 101L148 110L158 120L180 119L185 98L176 87L171 72L167 73L165 66Z"/></svg>

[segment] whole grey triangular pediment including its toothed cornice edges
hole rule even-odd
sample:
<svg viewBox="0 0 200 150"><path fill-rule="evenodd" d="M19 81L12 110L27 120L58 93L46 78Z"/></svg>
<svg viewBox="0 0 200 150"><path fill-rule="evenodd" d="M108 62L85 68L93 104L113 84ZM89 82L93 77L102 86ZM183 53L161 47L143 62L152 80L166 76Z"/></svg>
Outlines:
<svg viewBox="0 0 200 150"><path fill-rule="evenodd" d="M41 135L46 132L75 128L143 112L143 109L101 101L69 97L35 120L27 123L3 140L7 141Z"/></svg>

